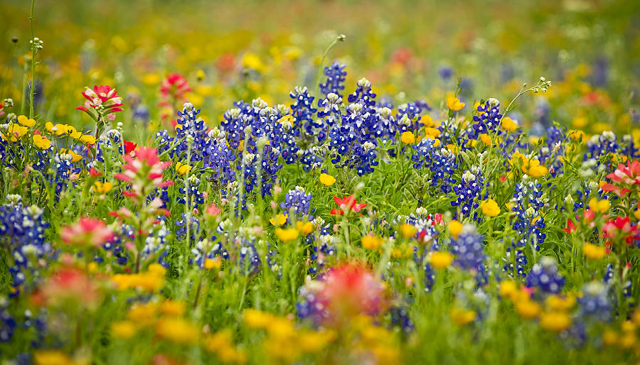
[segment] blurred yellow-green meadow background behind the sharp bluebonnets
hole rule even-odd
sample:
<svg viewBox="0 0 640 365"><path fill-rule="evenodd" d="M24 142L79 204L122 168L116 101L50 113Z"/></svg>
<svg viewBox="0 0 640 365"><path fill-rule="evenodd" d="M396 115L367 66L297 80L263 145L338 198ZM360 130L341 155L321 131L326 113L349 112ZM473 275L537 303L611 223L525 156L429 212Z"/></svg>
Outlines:
<svg viewBox="0 0 640 365"><path fill-rule="evenodd" d="M28 110L30 6L0 1L0 97L13 98L18 114ZM293 87L314 89L321 55L338 34L346 40L324 66L347 64L346 92L367 77L396 105L422 98L437 109L458 84L466 101L504 104L523 82L545 76L553 87L518 109L532 134L553 121L594 133L639 122L636 0L37 0L34 21L44 42L37 114L76 126L88 123L74 108L93 85L116 87L124 123L151 130L184 100L213 125L236 100L290 104ZM187 87L170 80L178 94L159 106L171 74Z"/></svg>

